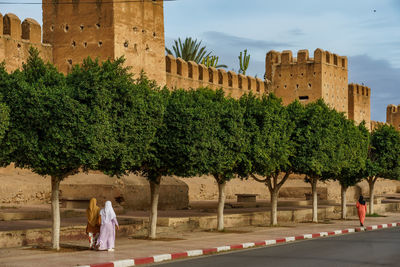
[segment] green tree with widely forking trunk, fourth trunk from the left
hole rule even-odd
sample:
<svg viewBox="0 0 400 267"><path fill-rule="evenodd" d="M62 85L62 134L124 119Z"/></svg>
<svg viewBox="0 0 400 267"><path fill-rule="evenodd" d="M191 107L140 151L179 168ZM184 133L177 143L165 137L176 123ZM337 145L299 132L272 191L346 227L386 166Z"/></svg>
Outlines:
<svg viewBox="0 0 400 267"><path fill-rule="evenodd" d="M268 188L271 225L277 225L279 190L291 173L289 159L294 152L291 140L294 123L289 120L281 100L273 94L262 98L244 95L240 103L245 108L244 132L248 142L240 175L250 175ZM280 177L281 172L284 172L283 177Z"/></svg>

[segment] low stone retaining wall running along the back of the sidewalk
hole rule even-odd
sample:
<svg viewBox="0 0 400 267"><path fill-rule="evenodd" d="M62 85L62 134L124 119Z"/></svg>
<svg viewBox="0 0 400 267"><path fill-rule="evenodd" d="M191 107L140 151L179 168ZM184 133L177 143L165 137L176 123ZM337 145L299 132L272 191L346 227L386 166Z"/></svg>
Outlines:
<svg viewBox="0 0 400 267"><path fill-rule="evenodd" d="M375 211L384 213L387 211L399 211L400 203L384 203L376 204ZM339 219L341 209L339 206L320 207L318 209L318 220ZM347 207L347 216L357 216L355 206ZM296 209L296 210L280 210L278 211L278 222L309 222L312 220L312 210ZM368 221L368 218L367 218ZM268 226L270 223L270 212L250 212L242 214L226 214L224 215L225 227L241 227L241 226ZM217 226L217 216L199 216L199 217L183 217L183 218L158 218L157 232L171 231L173 229L184 229L192 231L194 229L210 230ZM117 236L145 235L147 233L148 219L137 218L134 222L123 224L121 221L120 230ZM85 226L61 227L60 240L65 242L68 240L86 239ZM43 244L51 242L51 229L29 229L17 231L0 231L0 247L19 247L25 245Z"/></svg>

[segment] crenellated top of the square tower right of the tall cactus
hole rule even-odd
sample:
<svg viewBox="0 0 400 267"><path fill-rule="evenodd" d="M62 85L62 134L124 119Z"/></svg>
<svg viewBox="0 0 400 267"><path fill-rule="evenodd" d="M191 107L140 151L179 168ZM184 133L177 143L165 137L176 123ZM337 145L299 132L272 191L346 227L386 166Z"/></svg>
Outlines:
<svg viewBox="0 0 400 267"><path fill-rule="evenodd" d="M287 64L306 64L306 63L329 64L344 69L347 69L348 67L347 57L339 56L329 51L324 51L320 48L317 48L314 51L313 58L309 56L309 52L307 49L299 50L297 52L297 57L293 57L293 53L290 50L284 50L282 52L271 50L267 53L265 62L267 67L272 66L274 64L287 65Z"/></svg>

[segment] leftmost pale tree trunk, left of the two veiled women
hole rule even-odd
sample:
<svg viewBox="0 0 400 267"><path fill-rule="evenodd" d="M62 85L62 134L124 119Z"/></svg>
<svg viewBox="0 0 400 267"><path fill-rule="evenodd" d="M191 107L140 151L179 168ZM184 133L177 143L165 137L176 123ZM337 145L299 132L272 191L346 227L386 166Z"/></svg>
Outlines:
<svg viewBox="0 0 400 267"><path fill-rule="evenodd" d="M51 177L52 247L60 250L60 179Z"/></svg>

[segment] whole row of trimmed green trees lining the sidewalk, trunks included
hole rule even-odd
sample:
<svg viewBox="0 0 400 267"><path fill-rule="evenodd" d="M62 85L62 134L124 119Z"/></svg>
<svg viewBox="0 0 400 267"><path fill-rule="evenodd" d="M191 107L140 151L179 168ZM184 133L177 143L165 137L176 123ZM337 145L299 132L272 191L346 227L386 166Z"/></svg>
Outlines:
<svg viewBox="0 0 400 267"><path fill-rule="evenodd" d="M35 50L22 70L8 74L2 66L0 78L1 164L14 162L51 177L55 249L59 184L79 171L145 176L150 238L156 237L164 176L212 175L219 188L218 230L223 230L224 188L235 177L266 185L275 225L279 190L293 173L305 174L312 185L316 222L318 181L338 180L345 192L368 179L373 203L376 177L397 179L400 171L400 135L393 127L370 134L322 100L284 107L273 94L236 100L222 90L171 92L143 75L134 80L123 59L101 64L87 59L64 76Z"/></svg>

